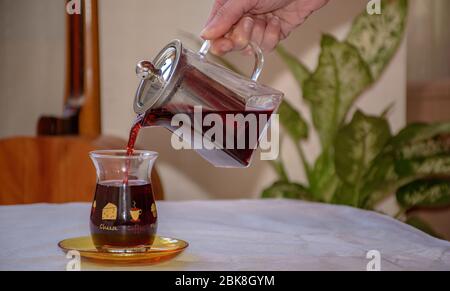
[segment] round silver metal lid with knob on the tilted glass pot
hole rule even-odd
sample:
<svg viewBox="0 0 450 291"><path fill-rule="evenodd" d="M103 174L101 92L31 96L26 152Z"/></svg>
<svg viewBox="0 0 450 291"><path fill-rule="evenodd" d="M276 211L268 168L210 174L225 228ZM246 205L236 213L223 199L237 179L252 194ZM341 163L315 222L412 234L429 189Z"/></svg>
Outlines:
<svg viewBox="0 0 450 291"><path fill-rule="evenodd" d="M180 61L182 44L179 40L169 43L155 57L153 62L140 61L136 66L136 75L141 79L134 100L134 111L143 114L148 109L162 103L172 92L172 78Z"/></svg>

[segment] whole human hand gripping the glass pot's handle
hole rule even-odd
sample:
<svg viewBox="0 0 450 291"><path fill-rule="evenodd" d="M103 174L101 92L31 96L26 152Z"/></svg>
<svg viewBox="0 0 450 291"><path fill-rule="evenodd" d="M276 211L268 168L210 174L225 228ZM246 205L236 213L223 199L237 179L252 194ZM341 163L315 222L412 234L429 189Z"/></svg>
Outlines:
<svg viewBox="0 0 450 291"><path fill-rule="evenodd" d="M201 36L212 41L211 51L216 55L246 49L250 41L265 52L272 51L328 1L215 0Z"/></svg>

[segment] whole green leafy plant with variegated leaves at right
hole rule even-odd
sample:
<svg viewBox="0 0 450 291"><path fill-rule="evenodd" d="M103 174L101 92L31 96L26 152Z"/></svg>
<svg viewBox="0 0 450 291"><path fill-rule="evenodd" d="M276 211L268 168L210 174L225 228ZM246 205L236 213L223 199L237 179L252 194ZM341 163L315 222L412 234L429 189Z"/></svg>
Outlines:
<svg viewBox="0 0 450 291"><path fill-rule="evenodd" d="M374 209L396 192L402 211L450 205L450 123L412 124L393 135L386 115L369 116L354 102L381 76L400 46L406 26L407 0L383 1L383 13L362 13L349 35L339 41L324 35L315 71L310 72L283 47L280 57L294 75L310 108L322 152L308 163L302 144L310 125L283 102L280 122L294 141L306 173L302 185L288 178L282 160L273 162L278 181L264 198L284 197ZM423 230L417 218L407 222Z"/></svg>

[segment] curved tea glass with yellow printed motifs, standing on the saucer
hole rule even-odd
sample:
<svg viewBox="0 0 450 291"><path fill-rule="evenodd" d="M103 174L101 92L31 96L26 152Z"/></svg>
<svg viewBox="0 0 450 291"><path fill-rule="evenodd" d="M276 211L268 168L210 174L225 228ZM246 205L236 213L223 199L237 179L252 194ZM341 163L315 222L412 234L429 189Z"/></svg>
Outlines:
<svg viewBox="0 0 450 291"><path fill-rule="evenodd" d="M97 186L90 216L99 251L135 252L150 248L157 230L151 171L158 154L150 151L94 151Z"/></svg>

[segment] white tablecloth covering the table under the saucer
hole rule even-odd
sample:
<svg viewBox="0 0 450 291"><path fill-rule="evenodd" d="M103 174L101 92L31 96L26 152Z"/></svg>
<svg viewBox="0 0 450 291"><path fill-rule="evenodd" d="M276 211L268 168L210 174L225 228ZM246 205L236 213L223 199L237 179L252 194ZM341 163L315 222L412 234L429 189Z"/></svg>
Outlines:
<svg viewBox="0 0 450 291"><path fill-rule="evenodd" d="M1 270L65 270L60 240L89 235L89 204L0 207ZM390 217L289 200L160 202L159 233L187 240L174 260L83 270L450 270L450 243Z"/></svg>

